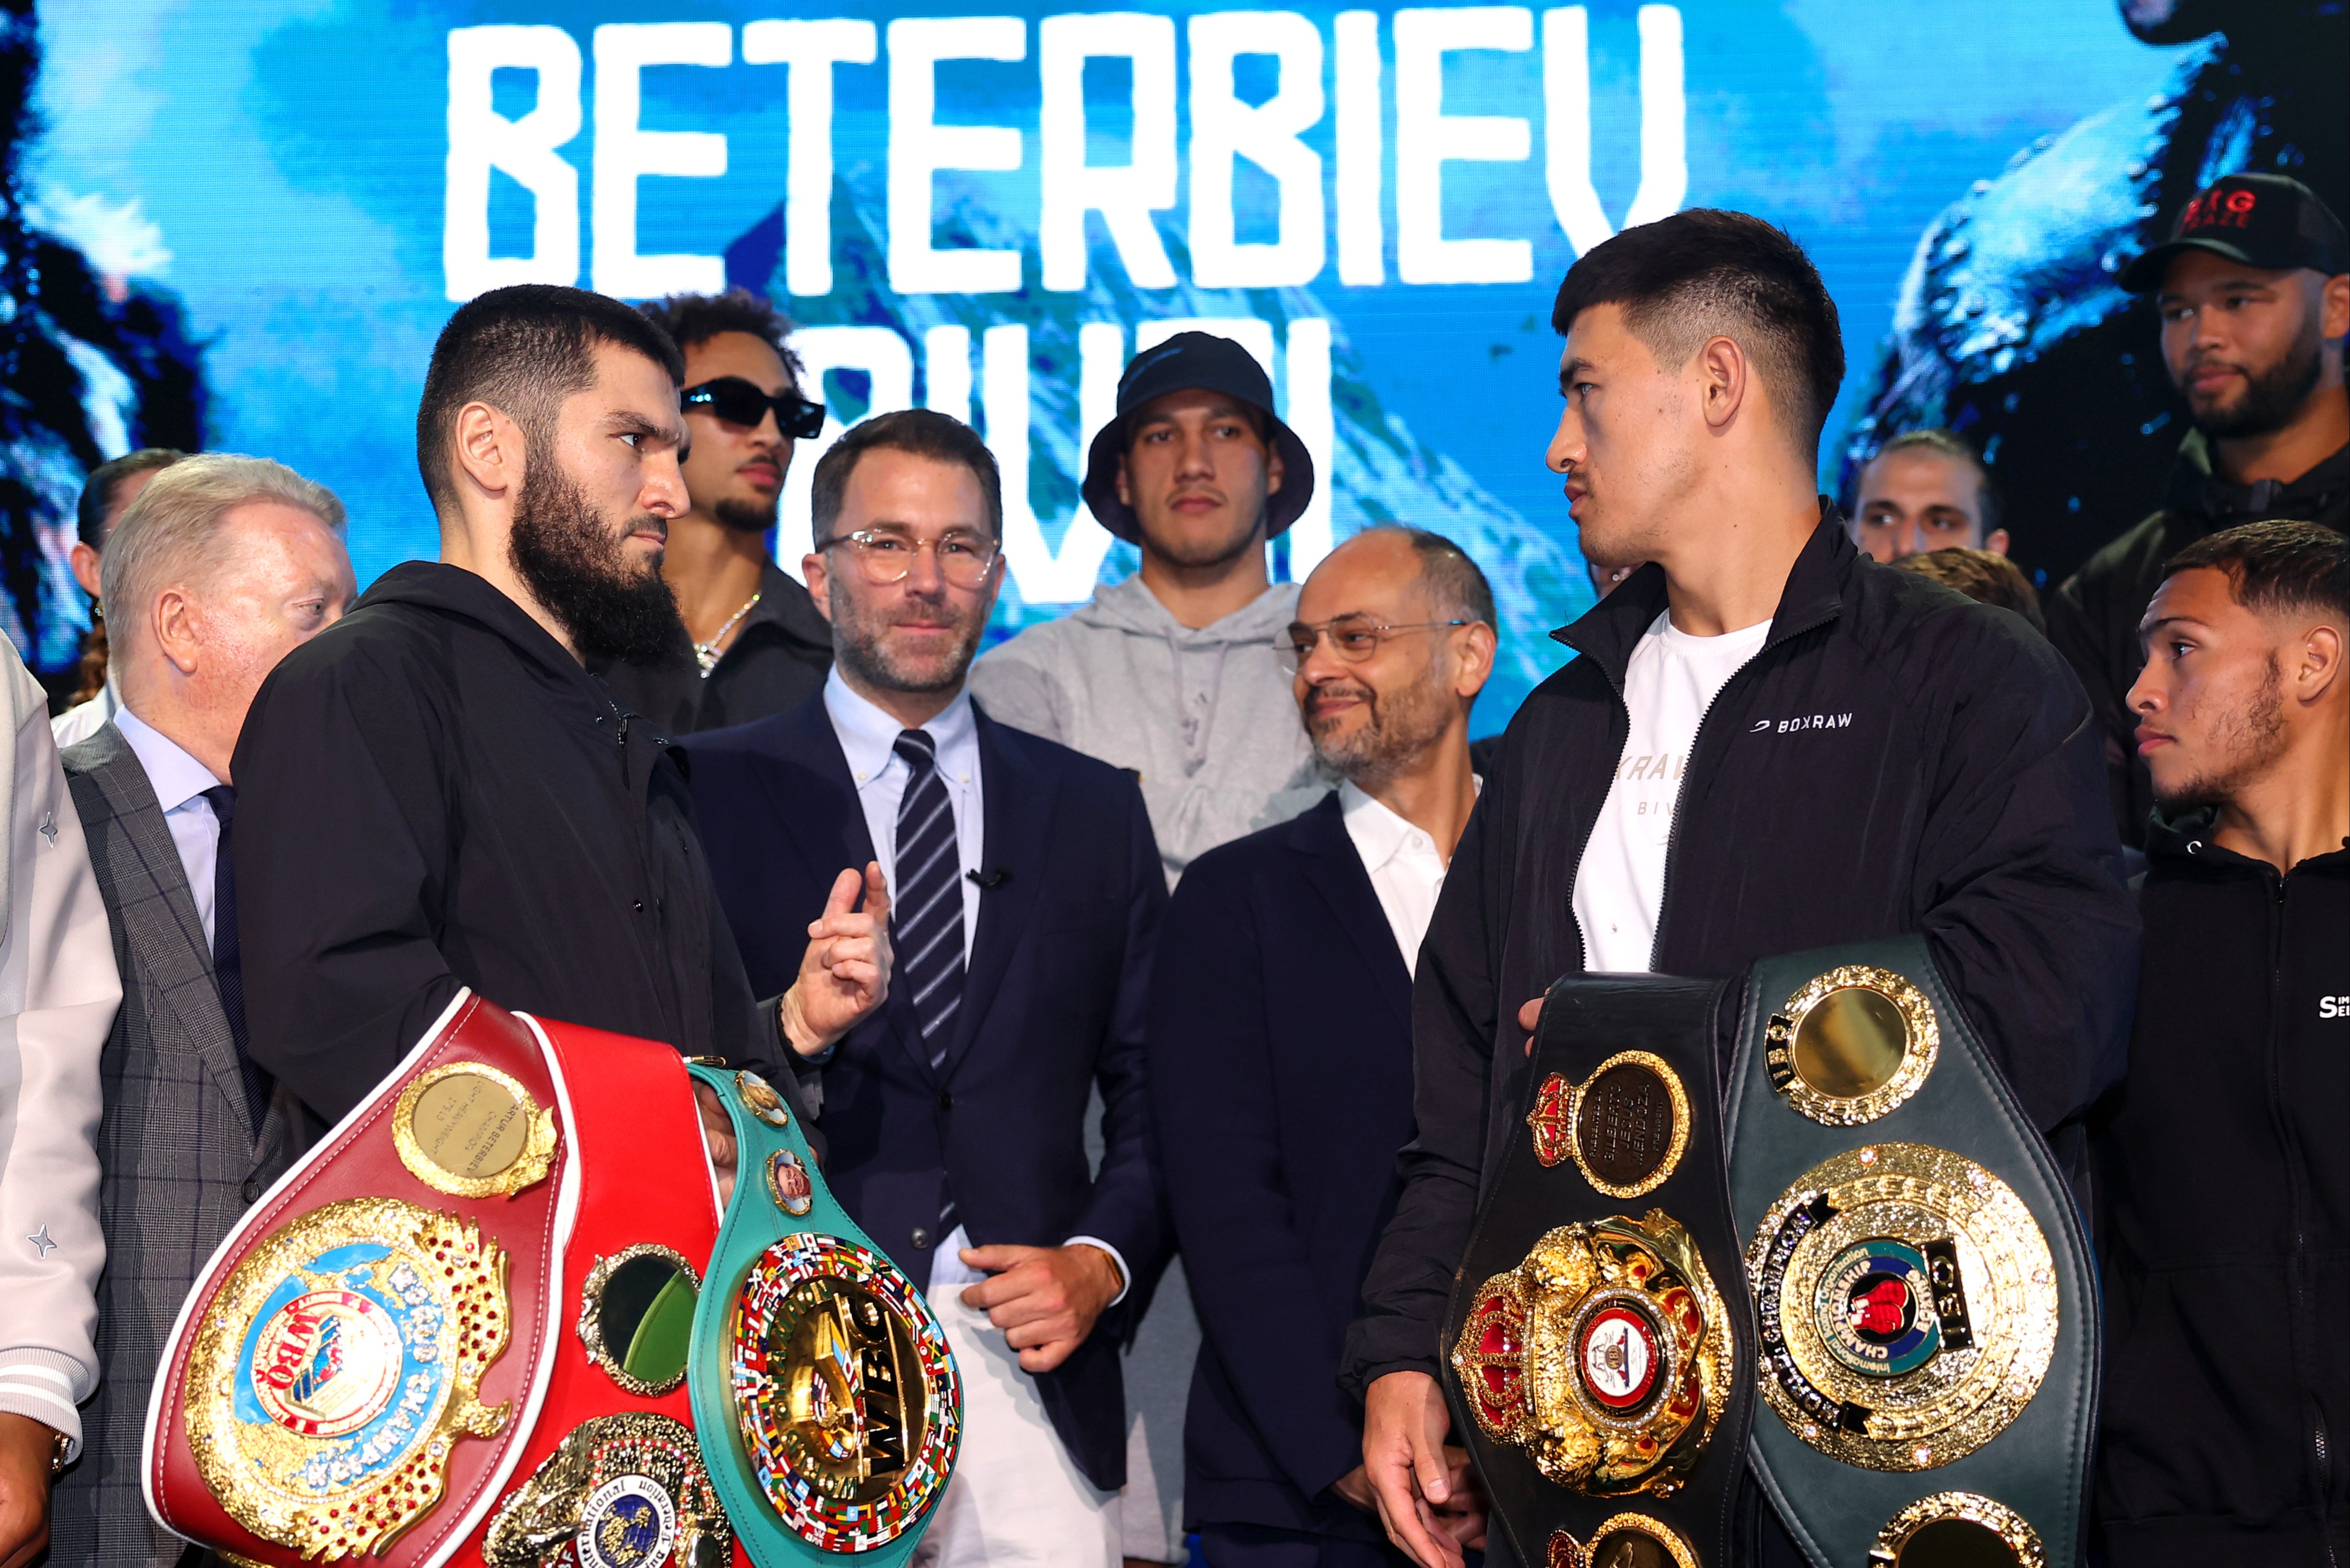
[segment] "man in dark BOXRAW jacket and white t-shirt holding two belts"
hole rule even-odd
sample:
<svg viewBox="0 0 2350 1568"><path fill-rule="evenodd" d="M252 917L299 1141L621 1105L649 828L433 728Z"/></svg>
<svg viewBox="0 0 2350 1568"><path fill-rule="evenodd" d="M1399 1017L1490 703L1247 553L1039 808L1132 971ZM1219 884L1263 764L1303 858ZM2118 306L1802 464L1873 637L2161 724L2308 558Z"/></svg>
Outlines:
<svg viewBox="0 0 2350 1568"><path fill-rule="evenodd" d="M1650 564L1558 632L1582 656L1511 719L1419 952L1417 1135L1342 1380L1389 1535L1426 1568L1459 1561L1429 1521L1438 1326L1525 1114L1530 997L1922 933L2056 1128L2120 1077L2136 959L2080 682L2019 616L1864 559L1817 494L1845 367L1795 242L1737 212L1626 228L1551 324L1551 470L1593 559ZM1746 1519L1741 1552L1800 1561L1760 1490Z"/></svg>

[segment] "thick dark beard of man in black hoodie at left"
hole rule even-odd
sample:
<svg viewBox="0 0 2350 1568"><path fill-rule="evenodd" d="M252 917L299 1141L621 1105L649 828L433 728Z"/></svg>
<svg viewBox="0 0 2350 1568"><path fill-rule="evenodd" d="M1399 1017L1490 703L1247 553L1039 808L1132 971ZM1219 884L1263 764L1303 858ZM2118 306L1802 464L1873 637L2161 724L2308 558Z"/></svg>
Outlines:
<svg viewBox="0 0 2350 1568"><path fill-rule="evenodd" d="M611 524L552 454L529 454L508 550L583 658L656 663L689 646L660 562L632 567Z"/></svg>

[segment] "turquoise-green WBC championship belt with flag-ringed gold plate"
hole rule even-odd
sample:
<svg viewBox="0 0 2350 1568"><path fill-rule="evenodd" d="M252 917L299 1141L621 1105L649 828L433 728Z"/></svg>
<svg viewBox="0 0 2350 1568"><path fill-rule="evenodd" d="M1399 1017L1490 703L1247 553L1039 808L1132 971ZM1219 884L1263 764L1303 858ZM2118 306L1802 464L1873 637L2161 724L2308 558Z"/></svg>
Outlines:
<svg viewBox="0 0 2350 1568"><path fill-rule="evenodd" d="M733 1117L736 1190L693 1314L693 1429L759 1568L902 1563L964 1429L947 1335L825 1190L783 1095L696 1065Z"/></svg>

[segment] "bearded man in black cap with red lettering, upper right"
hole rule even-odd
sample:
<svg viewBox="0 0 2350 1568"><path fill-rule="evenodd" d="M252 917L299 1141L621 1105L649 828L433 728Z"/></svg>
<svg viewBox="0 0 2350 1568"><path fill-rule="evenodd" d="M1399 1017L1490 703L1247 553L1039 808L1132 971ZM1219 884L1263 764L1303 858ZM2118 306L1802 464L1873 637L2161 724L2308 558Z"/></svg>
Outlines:
<svg viewBox="0 0 2350 1568"><path fill-rule="evenodd" d="M2153 294L2162 362L2195 430L2162 510L2115 538L2047 602L2049 639L2089 689L2122 842L2146 842L2153 783L2124 703L2146 665L2138 618L2162 564L2240 522L2350 529L2350 244L2301 181L2230 174L2200 190L2164 244L2122 273Z"/></svg>

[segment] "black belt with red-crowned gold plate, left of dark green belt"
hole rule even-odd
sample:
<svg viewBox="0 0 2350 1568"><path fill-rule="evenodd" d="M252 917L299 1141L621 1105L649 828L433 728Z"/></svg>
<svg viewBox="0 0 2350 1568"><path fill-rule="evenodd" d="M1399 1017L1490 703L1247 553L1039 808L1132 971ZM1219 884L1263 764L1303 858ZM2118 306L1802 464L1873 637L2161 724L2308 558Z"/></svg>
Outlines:
<svg viewBox="0 0 2350 1568"><path fill-rule="evenodd" d="M1720 983L1567 976L1445 1309L1445 1399L1530 1568L1716 1568L1753 1307L1716 1119Z"/></svg>

